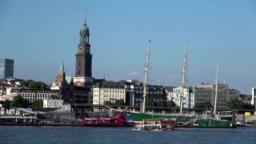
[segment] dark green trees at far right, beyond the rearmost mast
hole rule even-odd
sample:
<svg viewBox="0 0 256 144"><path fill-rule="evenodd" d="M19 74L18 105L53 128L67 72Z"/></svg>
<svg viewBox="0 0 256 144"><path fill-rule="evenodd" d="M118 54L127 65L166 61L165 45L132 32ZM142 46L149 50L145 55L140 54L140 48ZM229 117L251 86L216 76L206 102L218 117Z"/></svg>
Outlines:
<svg viewBox="0 0 256 144"><path fill-rule="evenodd" d="M238 100L237 98L229 99L228 108L234 110L241 109L253 109L251 105L244 103L242 100Z"/></svg>

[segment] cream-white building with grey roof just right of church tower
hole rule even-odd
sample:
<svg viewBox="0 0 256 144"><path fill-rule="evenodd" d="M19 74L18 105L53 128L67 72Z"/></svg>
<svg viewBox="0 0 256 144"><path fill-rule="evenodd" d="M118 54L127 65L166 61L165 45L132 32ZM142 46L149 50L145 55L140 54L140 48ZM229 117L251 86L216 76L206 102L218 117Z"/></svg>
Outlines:
<svg viewBox="0 0 256 144"><path fill-rule="evenodd" d="M105 101L115 103L115 100L122 99L125 102L125 86L119 84L96 83L93 88L93 103L104 104Z"/></svg>

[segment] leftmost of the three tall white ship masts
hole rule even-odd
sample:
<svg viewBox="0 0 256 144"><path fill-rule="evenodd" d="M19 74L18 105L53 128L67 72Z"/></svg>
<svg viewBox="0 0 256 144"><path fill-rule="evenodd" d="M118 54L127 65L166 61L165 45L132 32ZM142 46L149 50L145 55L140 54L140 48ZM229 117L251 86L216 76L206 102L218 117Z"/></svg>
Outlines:
<svg viewBox="0 0 256 144"><path fill-rule="evenodd" d="M139 112L142 112L144 113L145 111L145 101L146 101L146 94L147 94L147 77L148 77L148 56L149 56L149 44L151 43L151 41L149 40L149 43L148 43L148 52L147 52L147 61L146 61L146 64L145 64L145 81L143 83L143 95L142 95L142 98L143 98L143 101L142 101L142 104L141 104L141 109L139 110Z"/></svg>

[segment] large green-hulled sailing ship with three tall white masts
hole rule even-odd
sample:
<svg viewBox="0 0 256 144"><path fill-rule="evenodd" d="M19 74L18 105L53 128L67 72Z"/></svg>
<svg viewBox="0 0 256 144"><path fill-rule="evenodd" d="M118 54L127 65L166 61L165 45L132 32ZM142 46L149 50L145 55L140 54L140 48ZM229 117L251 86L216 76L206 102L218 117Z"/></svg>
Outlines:
<svg viewBox="0 0 256 144"><path fill-rule="evenodd" d="M149 48L150 48L150 41L148 44L148 51L147 51L147 60L145 64L145 80L143 83L143 99L142 99L142 104L141 104L141 109L139 112L135 111L129 111L128 115L133 119L133 122L135 124L140 124L142 123L143 119L156 119L156 118L178 118L180 123L183 123L184 125L188 124L195 124L195 122L200 122L200 124L203 124L204 127L234 127L234 123L230 121L231 116L220 116L216 115L216 101L217 101L217 95L218 95L218 71L219 71L219 62L218 62L218 68L217 68L217 80L216 80L216 95L215 95L215 101L214 101L214 115L211 115L210 121L209 117L206 118L206 116L202 115L195 115L193 114L184 114L183 113L183 97L184 97L184 89L185 87L185 72L186 72L186 67L187 67L187 50L188 50L188 42L186 43L186 48L185 48L185 55L184 55L184 62L183 62L183 76L182 76L182 83L179 85L181 87L181 109L179 114L168 114L168 113L153 113L153 112L145 112L145 101L146 101L146 90L147 90L147 74L148 74L148 59L149 59ZM229 121L222 121L222 119L228 118ZM218 120L218 121L217 121ZM209 121L209 122L208 122ZM212 122L214 121L214 122ZM217 121L217 122L215 122ZM205 124L207 123L207 124ZM229 124L223 124L223 123L230 123ZM195 124L196 125L196 124ZM200 125L202 126L202 125Z"/></svg>

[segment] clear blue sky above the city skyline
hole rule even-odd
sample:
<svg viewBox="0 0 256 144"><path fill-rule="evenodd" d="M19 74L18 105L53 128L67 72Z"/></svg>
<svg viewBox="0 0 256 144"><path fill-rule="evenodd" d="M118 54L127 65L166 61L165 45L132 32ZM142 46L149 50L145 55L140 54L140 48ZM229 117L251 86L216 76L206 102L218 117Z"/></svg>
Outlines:
<svg viewBox="0 0 256 144"><path fill-rule="evenodd" d="M178 86L188 41L188 85L219 83L250 94L256 86L255 1L0 1L0 52L14 76L51 83L63 58L74 76L84 10L92 76Z"/></svg>

